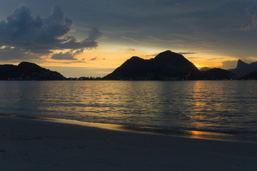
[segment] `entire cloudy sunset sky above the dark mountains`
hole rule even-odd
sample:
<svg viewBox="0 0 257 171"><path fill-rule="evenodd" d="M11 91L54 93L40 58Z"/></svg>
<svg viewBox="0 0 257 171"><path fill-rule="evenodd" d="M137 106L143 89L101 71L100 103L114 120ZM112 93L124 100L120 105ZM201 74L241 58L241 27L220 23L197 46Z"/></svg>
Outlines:
<svg viewBox="0 0 257 171"><path fill-rule="evenodd" d="M198 68L257 61L257 0L0 0L0 64L106 76L131 56Z"/></svg>

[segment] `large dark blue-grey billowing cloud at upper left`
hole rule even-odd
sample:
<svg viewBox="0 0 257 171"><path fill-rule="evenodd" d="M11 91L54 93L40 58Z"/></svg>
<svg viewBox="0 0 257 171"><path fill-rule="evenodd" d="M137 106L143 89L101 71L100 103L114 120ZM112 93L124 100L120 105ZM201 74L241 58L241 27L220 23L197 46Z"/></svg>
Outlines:
<svg viewBox="0 0 257 171"><path fill-rule="evenodd" d="M72 29L71 19L65 16L59 6L54 6L51 15L46 18L34 18L28 7L21 6L8 16L6 21L0 21L0 47L10 47L10 53L19 49L24 51L24 54L46 55L54 50L65 49L76 50L79 53L85 48L98 46L96 40L101 36L98 28L91 28L83 41L69 36ZM58 53L57 56L68 58L68 53Z"/></svg>

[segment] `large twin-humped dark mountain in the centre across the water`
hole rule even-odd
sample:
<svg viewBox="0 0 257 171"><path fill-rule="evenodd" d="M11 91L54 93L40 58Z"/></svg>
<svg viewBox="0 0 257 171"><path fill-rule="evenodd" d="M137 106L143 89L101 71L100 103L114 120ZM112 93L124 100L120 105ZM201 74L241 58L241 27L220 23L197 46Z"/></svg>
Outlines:
<svg viewBox="0 0 257 171"><path fill-rule="evenodd" d="M198 72L198 68L181 54L164 51L148 60L133 56L103 79L183 80Z"/></svg>

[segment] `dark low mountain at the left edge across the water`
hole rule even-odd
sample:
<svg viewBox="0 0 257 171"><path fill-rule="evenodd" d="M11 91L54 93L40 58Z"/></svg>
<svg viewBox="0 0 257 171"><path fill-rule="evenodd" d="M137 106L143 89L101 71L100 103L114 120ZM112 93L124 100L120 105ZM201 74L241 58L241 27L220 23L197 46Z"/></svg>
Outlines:
<svg viewBox="0 0 257 171"><path fill-rule="evenodd" d="M54 81L66 78L56 71L42 68L35 63L21 62L18 66L0 65L0 80Z"/></svg>

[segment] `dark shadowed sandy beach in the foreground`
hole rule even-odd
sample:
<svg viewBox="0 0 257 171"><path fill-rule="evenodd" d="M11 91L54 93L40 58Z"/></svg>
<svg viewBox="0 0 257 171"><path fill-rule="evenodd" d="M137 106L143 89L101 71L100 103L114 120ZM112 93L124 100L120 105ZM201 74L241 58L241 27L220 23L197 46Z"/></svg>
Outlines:
<svg viewBox="0 0 257 171"><path fill-rule="evenodd" d="M257 143L0 117L0 170L256 170Z"/></svg>

